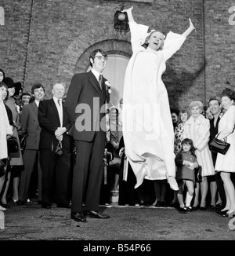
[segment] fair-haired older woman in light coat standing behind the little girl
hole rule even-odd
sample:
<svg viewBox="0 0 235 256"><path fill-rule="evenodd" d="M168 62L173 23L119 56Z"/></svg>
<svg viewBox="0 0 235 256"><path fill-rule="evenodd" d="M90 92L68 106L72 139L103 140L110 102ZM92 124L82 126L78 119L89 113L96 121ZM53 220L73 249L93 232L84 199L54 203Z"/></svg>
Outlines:
<svg viewBox="0 0 235 256"><path fill-rule="evenodd" d="M201 101L192 101L190 103L190 119L186 121L183 131L183 138L189 138L193 141L196 148L197 162L202 168L202 181L197 182L195 188L195 198L193 202L193 210L199 207L199 192L201 187L201 204L200 210L206 210L206 197L208 194L208 179L207 176L215 175L211 152L208 148L208 141L210 137L210 122L201 115L203 111L203 104Z"/></svg>

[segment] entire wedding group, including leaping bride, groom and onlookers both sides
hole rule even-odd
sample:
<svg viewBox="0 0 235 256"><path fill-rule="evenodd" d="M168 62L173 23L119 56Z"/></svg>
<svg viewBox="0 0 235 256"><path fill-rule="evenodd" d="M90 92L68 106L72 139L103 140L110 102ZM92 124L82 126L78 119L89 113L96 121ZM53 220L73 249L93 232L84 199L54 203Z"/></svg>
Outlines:
<svg viewBox="0 0 235 256"><path fill-rule="evenodd" d="M107 219L99 206L112 203L116 193L121 206L235 212L234 90L222 90L208 106L192 101L188 109L170 109L161 75L193 24L182 35L165 37L147 33L132 8L123 12L133 56L118 106L110 103L110 84L102 75L103 49L91 53L92 69L75 74L67 93L63 82L53 84L48 100L42 83L24 92L0 69L0 210L10 207L9 199L23 206L36 197L45 209L52 203L70 208L74 221ZM136 104L150 108L135 115ZM214 137L230 143L226 155L210 151Z"/></svg>

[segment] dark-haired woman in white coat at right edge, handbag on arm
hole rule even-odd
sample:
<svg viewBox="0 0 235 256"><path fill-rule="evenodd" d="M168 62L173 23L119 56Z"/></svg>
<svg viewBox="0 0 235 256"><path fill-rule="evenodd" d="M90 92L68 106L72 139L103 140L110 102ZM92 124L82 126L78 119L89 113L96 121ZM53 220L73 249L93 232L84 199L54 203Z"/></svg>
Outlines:
<svg viewBox="0 0 235 256"><path fill-rule="evenodd" d="M226 110L225 114L219 121L218 138L226 139L230 143L230 148L226 155L219 154L215 162L215 170L220 172L223 185L226 192L226 207L223 216L235 214L235 189L231 181L230 174L235 173L235 92L229 88L222 91L221 95L222 108ZM217 136L216 135L216 136Z"/></svg>

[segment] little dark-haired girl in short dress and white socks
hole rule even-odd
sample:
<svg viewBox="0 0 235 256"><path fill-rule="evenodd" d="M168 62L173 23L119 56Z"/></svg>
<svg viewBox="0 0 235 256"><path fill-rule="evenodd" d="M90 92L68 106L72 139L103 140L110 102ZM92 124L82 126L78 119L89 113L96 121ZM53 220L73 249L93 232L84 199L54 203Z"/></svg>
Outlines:
<svg viewBox="0 0 235 256"><path fill-rule="evenodd" d="M182 141L182 149L175 156L175 165L177 166L176 180L179 185L178 200L180 211L191 211L190 203L193 199L195 173L194 169L198 167L197 157L193 141L186 138ZM183 202L184 187L187 187L186 205Z"/></svg>

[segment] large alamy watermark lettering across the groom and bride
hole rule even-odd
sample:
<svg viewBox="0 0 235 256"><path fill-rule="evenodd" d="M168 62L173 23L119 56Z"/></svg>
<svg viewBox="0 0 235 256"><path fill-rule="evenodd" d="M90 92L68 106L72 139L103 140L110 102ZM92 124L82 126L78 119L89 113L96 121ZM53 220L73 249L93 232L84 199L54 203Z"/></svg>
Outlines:
<svg viewBox="0 0 235 256"><path fill-rule="evenodd" d="M107 105L99 105L99 98L94 97L92 108L89 104L78 104L75 108L75 129L81 131L107 131ZM147 133L146 139L153 134L160 134L159 116L161 116L159 104L124 104L122 120L125 130L128 132ZM118 119L116 120L118 124ZM122 127L115 129L121 130Z"/></svg>

